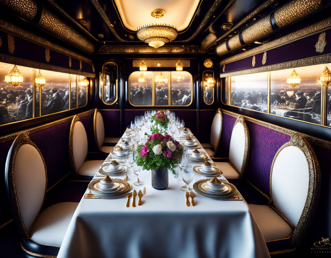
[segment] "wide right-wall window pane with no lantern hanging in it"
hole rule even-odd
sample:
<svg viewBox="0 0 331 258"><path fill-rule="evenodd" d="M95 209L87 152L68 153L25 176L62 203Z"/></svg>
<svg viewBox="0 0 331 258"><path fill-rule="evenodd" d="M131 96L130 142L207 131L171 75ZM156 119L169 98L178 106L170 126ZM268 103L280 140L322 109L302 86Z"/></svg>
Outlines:
<svg viewBox="0 0 331 258"><path fill-rule="evenodd" d="M267 112L268 72L231 77L231 105Z"/></svg>

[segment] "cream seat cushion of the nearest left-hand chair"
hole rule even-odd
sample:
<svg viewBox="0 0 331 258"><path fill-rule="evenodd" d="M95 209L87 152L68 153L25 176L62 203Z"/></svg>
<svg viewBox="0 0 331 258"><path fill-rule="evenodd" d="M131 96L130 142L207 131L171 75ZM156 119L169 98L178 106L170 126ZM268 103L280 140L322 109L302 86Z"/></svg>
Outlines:
<svg viewBox="0 0 331 258"><path fill-rule="evenodd" d="M31 239L39 244L60 247L77 206L77 202L62 202L46 208L31 228Z"/></svg>

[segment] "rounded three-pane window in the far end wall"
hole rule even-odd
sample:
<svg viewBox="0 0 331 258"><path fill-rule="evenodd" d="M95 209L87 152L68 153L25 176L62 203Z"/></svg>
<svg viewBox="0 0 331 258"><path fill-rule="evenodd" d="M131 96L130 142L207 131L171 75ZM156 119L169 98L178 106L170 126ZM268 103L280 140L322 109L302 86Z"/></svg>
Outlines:
<svg viewBox="0 0 331 258"><path fill-rule="evenodd" d="M186 71L136 71L129 77L129 101L134 106L190 105L192 82Z"/></svg>

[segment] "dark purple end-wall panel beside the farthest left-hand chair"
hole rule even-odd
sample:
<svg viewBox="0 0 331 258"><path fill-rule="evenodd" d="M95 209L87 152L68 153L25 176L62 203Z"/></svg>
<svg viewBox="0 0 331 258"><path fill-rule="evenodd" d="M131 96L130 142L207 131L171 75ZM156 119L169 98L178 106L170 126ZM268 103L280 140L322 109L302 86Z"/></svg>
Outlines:
<svg viewBox="0 0 331 258"><path fill-rule="evenodd" d="M119 110L99 110L105 125L106 137L120 137ZM126 128L126 127L125 127Z"/></svg>

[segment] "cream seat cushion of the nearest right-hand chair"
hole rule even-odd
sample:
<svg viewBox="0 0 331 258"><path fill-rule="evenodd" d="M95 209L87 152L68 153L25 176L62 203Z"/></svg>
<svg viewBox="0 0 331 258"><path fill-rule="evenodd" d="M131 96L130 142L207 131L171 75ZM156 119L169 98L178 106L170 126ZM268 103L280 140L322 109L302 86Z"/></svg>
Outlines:
<svg viewBox="0 0 331 258"><path fill-rule="evenodd" d="M266 242L287 238L293 228L279 214L267 205L248 205L257 221Z"/></svg>

